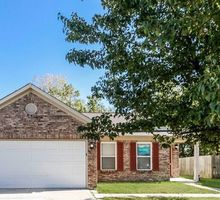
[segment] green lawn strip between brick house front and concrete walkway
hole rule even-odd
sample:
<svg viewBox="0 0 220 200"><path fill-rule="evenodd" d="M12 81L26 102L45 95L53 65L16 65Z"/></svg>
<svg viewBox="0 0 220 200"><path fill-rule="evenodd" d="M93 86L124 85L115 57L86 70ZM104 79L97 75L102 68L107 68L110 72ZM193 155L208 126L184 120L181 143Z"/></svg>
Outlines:
<svg viewBox="0 0 220 200"><path fill-rule="evenodd" d="M210 190L200 189L193 186L185 185L184 183L177 182L120 182L120 183L98 183L98 193L164 193L164 194L181 194L181 193L217 193Z"/></svg>

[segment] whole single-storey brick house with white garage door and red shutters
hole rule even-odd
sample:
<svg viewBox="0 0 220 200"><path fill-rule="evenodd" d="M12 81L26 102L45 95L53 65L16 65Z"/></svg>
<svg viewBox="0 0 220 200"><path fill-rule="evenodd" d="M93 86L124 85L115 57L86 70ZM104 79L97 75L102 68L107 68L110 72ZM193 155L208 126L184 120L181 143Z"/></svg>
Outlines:
<svg viewBox="0 0 220 200"><path fill-rule="evenodd" d="M151 134L82 139L77 127L97 115L79 113L32 84L1 99L0 188L94 188L98 181L178 175L178 147L162 149Z"/></svg>

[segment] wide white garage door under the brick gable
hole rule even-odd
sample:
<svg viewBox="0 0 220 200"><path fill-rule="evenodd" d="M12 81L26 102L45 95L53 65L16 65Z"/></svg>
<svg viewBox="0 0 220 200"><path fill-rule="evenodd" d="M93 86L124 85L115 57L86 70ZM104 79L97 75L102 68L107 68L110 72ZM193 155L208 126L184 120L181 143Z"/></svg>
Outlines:
<svg viewBox="0 0 220 200"><path fill-rule="evenodd" d="M0 141L0 188L84 187L85 141Z"/></svg>

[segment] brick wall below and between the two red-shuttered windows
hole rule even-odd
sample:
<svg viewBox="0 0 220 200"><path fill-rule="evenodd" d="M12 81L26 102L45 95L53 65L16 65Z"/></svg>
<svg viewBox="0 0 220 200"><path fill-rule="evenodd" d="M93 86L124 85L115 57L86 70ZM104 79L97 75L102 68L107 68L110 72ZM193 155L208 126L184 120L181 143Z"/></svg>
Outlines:
<svg viewBox="0 0 220 200"><path fill-rule="evenodd" d="M124 170L99 171L98 181L156 181L170 178L169 149L159 150L159 171L130 170L130 142L124 141Z"/></svg>

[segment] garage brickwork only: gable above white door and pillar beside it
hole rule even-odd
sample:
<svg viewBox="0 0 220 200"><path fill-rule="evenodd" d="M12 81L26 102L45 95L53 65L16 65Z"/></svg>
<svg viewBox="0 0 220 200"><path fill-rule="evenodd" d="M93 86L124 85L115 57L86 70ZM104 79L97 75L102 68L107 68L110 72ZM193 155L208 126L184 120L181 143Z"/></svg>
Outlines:
<svg viewBox="0 0 220 200"><path fill-rule="evenodd" d="M33 116L25 112L28 103L35 103L38 111ZM77 119L64 113L37 95L29 93L0 109L0 139L80 139ZM88 148L89 149L89 148ZM88 150L88 186L97 182L96 149Z"/></svg>

